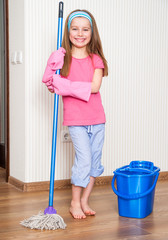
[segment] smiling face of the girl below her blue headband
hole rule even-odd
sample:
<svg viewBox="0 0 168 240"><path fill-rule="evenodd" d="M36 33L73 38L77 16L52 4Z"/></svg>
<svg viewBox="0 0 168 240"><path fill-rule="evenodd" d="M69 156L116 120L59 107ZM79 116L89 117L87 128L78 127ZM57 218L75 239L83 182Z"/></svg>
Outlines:
<svg viewBox="0 0 168 240"><path fill-rule="evenodd" d="M76 48L85 48L90 42L92 29L87 18L77 17L71 22L69 39Z"/></svg>

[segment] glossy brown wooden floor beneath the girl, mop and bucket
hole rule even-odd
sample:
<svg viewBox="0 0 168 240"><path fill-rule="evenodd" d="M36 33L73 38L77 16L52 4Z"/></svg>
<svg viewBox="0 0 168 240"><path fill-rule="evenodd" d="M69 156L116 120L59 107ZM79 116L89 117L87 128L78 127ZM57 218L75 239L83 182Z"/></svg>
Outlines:
<svg viewBox="0 0 168 240"><path fill-rule="evenodd" d="M48 192L20 192L0 183L0 239L47 240L111 240L168 239L168 182L156 186L154 210L145 219L118 215L118 203L110 185L96 186L90 205L97 214L84 220L74 220L69 214L71 189L56 190L54 207L67 224L65 230L31 230L19 222L48 207Z"/></svg>

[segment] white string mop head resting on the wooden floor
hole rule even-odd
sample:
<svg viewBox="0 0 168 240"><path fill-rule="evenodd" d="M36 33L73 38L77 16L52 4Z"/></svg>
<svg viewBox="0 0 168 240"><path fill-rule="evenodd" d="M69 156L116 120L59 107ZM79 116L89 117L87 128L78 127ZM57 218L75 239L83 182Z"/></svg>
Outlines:
<svg viewBox="0 0 168 240"><path fill-rule="evenodd" d="M41 230L55 230L58 228L66 228L66 224L64 223L63 218L58 214L44 214L43 212L39 212L38 215L34 215L28 219L21 221L20 224L27 228Z"/></svg>

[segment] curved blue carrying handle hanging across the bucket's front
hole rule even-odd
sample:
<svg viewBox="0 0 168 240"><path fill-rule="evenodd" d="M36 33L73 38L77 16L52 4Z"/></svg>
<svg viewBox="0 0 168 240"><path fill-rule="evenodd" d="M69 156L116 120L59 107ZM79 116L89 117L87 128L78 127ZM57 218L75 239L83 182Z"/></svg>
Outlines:
<svg viewBox="0 0 168 240"><path fill-rule="evenodd" d="M113 180L112 180L112 182L111 182L111 186L112 186L112 189L113 189L114 193L115 193L117 196L119 196L119 197L121 197L121 198L124 198L124 199L127 199L127 200L135 200L135 199L138 199L138 198L145 197L146 195L148 195L149 193L151 193L151 192L153 191L153 189L155 188L155 186L156 186L158 177L159 177L159 173L157 172L157 173L156 173L156 177L155 177L155 181L154 181L152 187L149 188L149 189L148 189L146 192L144 192L144 193L137 193L137 194L132 194L132 195L124 195L124 194L122 194L122 193L119 193L119 192L117 191L117 189L115 188L115 186L114 186L115 179L116 179L116 175L114 175L114 177L113 177Z"/></svg>

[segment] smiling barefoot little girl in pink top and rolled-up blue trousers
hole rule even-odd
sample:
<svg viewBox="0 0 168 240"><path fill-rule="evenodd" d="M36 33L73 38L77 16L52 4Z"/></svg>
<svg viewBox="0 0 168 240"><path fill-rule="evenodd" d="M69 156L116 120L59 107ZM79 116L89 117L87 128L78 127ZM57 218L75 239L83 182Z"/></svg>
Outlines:
<svg viewBox="0 0 168 240"><path fill-rule="evenodd" d="M68 126L75 148L70 213L76 219L95 215L89 196L100 176L105 113L99 89L108 75L107 62L93 15L75 10L65 22L63 48L52 53L43 76L50 92L62 95L63 125ZM62 69L61 69L62 68ZM54 74L61 69L61 75Z"/></svg>

